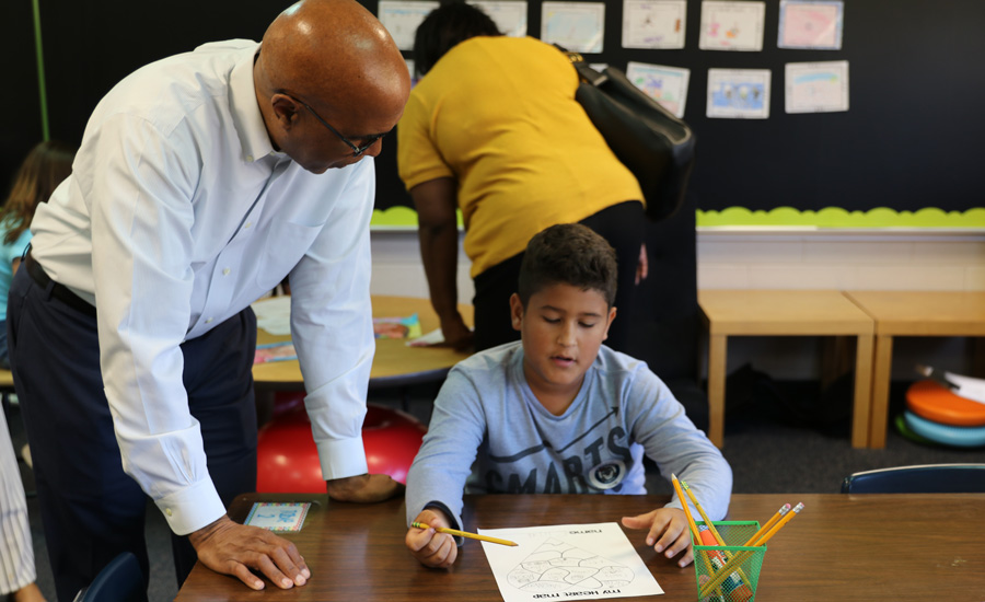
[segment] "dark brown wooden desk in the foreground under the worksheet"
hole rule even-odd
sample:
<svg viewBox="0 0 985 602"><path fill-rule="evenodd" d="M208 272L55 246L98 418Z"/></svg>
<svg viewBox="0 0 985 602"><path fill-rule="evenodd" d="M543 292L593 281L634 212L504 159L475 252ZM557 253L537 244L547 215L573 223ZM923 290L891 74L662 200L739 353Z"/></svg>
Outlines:
<svg viewBox="0 0 985 602"><path fill-rule="evenodd" d="M404 547L403 500L376 505L328 501L324 495L251 494L237 498L233 520L254 500L317 500L304 529L289 535L312 569L301 588L269 582L254 592L239 580L196 565L177 602L366 600L385 602L500 602L478 542L459 549L451 570L422 567ZM618 521L663 506L665 496L466 496L465 528ZM965 495L735 495L732 520L765 522L785 502L806 509L767 544L757 602L985 600L981 533L985 494ZM627 532L665 592L635 598L694 602L694 566L677 568Z"/></svg>

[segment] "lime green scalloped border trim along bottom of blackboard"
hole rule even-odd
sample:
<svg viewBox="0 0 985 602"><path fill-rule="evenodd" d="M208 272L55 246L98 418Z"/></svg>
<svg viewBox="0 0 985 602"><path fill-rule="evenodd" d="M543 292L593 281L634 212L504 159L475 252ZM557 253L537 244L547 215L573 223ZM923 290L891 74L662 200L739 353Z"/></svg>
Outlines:
<svg viewBox="0 0 985 602"><path fill-rule="evenodd" d="M841 207L826 207L820 211L801 211L792 207L777 207L768 211L745 207L729 207L721 211L697 210L698 225L741 227L813 227L813 228L985 228L985 207L967 211L943 211L927 207L917 211L896 211L877 207L869 211L848 211ZM409 207L391 207L373 210L370 221L373 228L416 229L417 211ZM459 211L459 227L462 212Z"/></svg>

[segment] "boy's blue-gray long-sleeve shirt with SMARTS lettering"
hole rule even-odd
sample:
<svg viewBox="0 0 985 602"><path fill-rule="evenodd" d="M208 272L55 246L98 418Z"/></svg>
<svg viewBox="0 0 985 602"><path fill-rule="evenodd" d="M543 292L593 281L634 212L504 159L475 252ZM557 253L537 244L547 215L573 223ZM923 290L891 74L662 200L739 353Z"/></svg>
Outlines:
<svg viewBox="0 0 985 602"><path fill-rule="evenodd" d="M526 383L522 345L502 345L460 362L442 385L407 474L407 522L437 503L462 525L463 491L645 494L644 453L686 481L711 520L725 517L729 464L645 362L602 346L554 416ZM681 508L676 496L668 506Z"/></svg>

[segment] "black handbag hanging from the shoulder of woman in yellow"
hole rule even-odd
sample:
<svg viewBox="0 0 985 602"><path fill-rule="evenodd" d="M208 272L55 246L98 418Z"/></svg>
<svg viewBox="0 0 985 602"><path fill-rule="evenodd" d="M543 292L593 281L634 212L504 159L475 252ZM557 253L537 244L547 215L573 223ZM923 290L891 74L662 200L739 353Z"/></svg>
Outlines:
<svg viewBox="0 0 985 602"><path fill-rule="evenodd" d="M636 176L647 217L659 221L673 216L684 202L694 167L691 128L636 88L623 71L606 67L600 73L581 55L560 50L571 59L581 80L575 100Z"/></svg>

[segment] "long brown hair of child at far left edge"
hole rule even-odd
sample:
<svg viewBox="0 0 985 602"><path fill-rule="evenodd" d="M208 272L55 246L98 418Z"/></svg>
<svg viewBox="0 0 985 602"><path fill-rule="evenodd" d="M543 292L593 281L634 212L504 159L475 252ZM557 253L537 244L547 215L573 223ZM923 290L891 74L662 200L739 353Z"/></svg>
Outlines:
<svg viewBox="0 0 985 602"><path fill-rule="evenodd" d="M36 144L14 176L10 196L0 208L0 225L7 229L5 244L13 244L31 225L38 204L48 197L61 181L72 173L76 151L65 142L47 140Z"/></svg>

